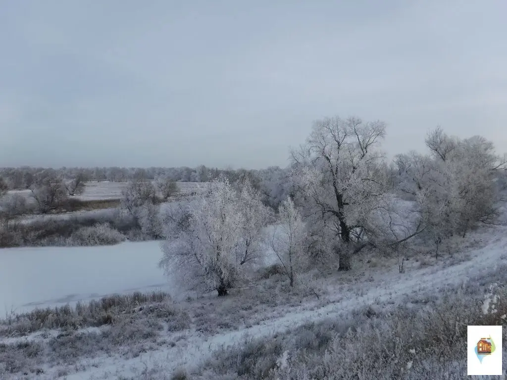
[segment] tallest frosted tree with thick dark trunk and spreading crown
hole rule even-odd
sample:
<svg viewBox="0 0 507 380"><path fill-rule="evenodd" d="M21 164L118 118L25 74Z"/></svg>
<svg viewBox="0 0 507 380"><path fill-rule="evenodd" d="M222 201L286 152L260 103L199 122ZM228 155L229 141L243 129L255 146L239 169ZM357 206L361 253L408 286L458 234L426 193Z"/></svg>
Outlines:
<svg viewBox="0 0 507 380"><path fill-rule="evenodd" d="M387 175L378 145L385 124L338 117L318 120L306 143L292 151L297 186L308 223L327 246L340 253L340 270L350 269L350 255L375 232L375 210L384 202ZM324 230L328 230L325 232Z"/></svg>

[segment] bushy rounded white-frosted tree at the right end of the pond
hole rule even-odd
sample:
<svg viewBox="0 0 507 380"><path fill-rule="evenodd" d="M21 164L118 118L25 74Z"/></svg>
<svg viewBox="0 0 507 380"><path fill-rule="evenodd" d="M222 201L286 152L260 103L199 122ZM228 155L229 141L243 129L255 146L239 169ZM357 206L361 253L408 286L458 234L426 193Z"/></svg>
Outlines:
<svg viewBox="0 0 507 380"><path fill-rule="evenodd" d="M213 180L203 197L189 200L187 211L178 213L187 218L173 218L177 239L162 245L160 266L194 289L226 295L261 252L255 241L255 230L263 219L263 212L256 211L259 204L254 193L238 194L227 179ZM245 218L245 209L253 209L250 218ZM253 228L251 235L245 234L248 225Z"/></svg>

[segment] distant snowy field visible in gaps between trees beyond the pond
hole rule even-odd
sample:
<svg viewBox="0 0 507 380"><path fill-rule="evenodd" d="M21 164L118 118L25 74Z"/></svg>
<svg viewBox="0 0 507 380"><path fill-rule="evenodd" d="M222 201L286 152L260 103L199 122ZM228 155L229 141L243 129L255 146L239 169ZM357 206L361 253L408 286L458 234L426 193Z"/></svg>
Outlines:
<svg viewBox="0 0 507 380"><path fill-rule="evenodd" d="M83 201L102 201L120 199L122 190L127 186L128 182L86 182L85 192L76 196L77 199ZM206 187L205 182L176 182L178 184L180 193L188 194L191 192L199 193L200 189ZM13 190L9 194L22 194L27 198L30 197L29 190Z"/></svg>

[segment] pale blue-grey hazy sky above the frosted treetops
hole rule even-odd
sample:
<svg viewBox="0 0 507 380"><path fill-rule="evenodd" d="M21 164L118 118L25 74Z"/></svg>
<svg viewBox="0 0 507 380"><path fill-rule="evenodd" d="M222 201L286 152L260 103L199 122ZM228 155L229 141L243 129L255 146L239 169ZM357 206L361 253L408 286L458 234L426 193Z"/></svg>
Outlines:
<svg viewBox="0 0 507 380"><path fill-rule="evenodd" d="M0 0L0 167L288 164L312 121L507 151L507 2Z"/></svg>

